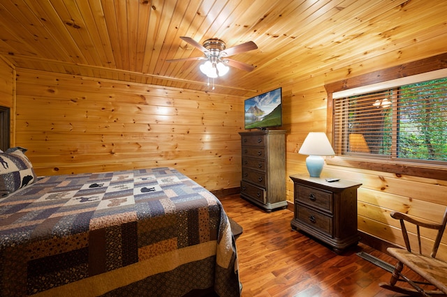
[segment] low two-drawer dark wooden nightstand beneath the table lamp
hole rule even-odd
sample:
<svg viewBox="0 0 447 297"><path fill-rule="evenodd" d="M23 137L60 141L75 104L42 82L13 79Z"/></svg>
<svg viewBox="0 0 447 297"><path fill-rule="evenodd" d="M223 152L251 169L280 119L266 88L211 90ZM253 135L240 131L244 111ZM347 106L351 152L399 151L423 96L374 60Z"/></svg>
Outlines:
<svg viewBox="0 0 447 297"><path fill-rule="evenodd" d="M293 180L293 229L330 245L342 253L357 245L357 189L362 185L340 179L328 183L324 178L291 175Z"/></svg>

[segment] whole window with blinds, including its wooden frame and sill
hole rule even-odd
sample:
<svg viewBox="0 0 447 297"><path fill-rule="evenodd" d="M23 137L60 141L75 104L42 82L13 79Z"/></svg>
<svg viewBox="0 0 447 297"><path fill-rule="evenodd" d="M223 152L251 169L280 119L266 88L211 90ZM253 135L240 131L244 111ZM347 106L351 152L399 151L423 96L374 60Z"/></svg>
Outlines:
<svg viewBox="0 0 447 297"><path fill-rule="evenodd" d="M325 84L329 165L447 181L447 53Z"/></svg>

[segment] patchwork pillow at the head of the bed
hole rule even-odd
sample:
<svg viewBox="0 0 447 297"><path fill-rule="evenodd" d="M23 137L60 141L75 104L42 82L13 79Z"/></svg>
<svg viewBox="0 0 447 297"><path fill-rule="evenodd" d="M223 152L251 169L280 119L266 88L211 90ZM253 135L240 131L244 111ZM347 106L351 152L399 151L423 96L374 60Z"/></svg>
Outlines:
<svg viewBox="0 0 447 297"><path fill-rule="evenodd" d="M6 197L36 181L33 166L24 155L26 151L26 148L17 146L0 153L0 197Z"/></svg>

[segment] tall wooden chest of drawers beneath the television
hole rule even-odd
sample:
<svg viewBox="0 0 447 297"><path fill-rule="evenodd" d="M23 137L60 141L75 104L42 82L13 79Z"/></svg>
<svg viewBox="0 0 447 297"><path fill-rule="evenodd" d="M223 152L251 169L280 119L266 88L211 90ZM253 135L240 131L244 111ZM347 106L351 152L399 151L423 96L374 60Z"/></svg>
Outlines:
<svg viewBox="0 0 447 297"><path fill-rule="evenodd" d="M240 132L242 181L240 195L272 211L286 208L286 131Z"/></svg>

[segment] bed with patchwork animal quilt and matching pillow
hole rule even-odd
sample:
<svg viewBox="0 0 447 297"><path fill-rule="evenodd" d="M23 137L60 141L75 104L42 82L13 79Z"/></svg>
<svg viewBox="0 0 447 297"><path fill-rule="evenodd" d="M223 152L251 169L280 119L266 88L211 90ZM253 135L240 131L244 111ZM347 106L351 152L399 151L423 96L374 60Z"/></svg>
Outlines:
<svg viewBox="0 0 447 297"><path fill-rule="evenodd" d="M37 177L22 148L0 159L0 296L240 296L220 201L176 169Z"/></svg>

